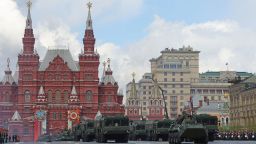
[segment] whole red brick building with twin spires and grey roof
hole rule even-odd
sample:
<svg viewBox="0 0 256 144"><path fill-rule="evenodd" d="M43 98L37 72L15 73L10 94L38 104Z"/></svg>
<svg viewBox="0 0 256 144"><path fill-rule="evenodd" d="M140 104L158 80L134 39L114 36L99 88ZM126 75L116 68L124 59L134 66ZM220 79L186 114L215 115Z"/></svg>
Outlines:
<svg viewBox="0 0 256 144"><path fill-rule="evenodd" d="M99 80L100 55L95 52L91 3L83 38L84 50L74 61L67 49L48 50L40 61L34 50L35 38L30 3L23 41L14 75L9 68L0 83L0 127L9 127L22 141L36 140L43 131L57 133L82 119L124 114L123 96L110 67L104 63ZM106 67L106 69L105 69ZM18 125L18 126L15 126ZM44 125L46 126L43 130Z"/></svg>

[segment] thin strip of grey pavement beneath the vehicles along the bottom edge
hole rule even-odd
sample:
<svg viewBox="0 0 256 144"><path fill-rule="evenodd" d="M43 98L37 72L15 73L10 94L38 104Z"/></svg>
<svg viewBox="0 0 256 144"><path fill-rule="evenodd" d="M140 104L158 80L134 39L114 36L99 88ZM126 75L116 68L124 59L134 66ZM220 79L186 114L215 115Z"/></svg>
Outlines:
<svg viewBox="0 0 256 144"><path fill-rule="evenodd" d="M37 144L97 144L97 142L37 142ZM108 143L114 143L112 141L109 141ZM20 142L20 143L12 143L12 144L34 144L33 142L31 143L25 143L25 142ZM168 144L168 142L152 142L152 141L129 141L128 144ZM256 141L213 141L209 142L208 144L256 144Z"/></svg>

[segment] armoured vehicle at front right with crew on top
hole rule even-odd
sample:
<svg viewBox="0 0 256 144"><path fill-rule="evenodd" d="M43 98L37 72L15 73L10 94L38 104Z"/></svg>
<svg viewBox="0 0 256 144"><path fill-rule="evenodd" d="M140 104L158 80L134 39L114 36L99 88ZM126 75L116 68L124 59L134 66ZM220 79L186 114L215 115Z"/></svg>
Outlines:
<svg viewBox="0 0 256 144"><path fill-rule="evenodd" d="M193 114L183 113L170 127L169 143L180 144L181 142L208 143L207 129L197 123Z"/></svg>

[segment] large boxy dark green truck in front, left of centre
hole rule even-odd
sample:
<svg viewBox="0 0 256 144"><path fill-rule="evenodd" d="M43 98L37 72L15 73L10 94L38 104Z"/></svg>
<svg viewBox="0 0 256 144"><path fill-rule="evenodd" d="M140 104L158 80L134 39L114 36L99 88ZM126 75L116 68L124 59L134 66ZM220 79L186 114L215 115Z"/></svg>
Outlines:
<svg viewBox="0 0 256 144"><path fill-rule="evenodd" d="M96 141L105 143L115 140L117 143L127 143L129 138L129 118L127 116L102 116L96 120Z"/></svg>

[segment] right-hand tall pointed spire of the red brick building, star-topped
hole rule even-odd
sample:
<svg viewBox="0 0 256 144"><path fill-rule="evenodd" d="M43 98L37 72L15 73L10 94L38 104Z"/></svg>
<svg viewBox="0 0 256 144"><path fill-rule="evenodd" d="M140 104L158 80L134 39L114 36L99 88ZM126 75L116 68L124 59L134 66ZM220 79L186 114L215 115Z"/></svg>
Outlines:
<svg viewBox="0 0 256 144"><path fill-rule="evenodd" d="M87 6L88 6L88 17L86 21L86 29L85 29L84 39L83 39L84 54L95 54L94 52L95 38L93 34L92 17L91 17L92 3L89 2Z"/></svg>

